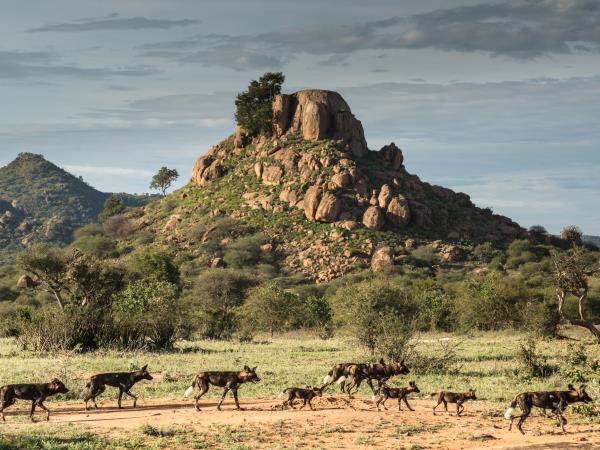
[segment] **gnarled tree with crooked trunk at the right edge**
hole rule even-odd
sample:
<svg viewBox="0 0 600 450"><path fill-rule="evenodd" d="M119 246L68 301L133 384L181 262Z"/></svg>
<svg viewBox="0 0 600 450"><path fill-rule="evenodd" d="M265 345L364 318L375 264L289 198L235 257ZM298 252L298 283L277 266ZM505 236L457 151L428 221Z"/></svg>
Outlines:
<svg viewBox="0 0 600 450"><path fill-rule="evenodd" d="M585 307L588 298L588 278L598 273L596 261L581 247L553 256L554 284L558 299L558 312L570 324L586 328L600 343L600 330L594 322L586 319ZM565 311L565 300L573 296L577 299L577 316Z"/></svg>

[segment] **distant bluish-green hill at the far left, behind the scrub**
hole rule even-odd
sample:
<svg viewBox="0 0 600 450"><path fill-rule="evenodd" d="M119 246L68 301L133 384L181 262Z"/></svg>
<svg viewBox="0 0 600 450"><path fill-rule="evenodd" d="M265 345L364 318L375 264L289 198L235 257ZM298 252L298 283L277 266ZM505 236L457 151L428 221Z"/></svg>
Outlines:
<svg viewBox="0 0 600 450"><path fill-rule="evenodd" d="M20 153L0 168L0 262L35 242L68 244L76 228L97 220L109 195L42 155ZM130 194L123 200L129 206L147 202Z"/></svg>

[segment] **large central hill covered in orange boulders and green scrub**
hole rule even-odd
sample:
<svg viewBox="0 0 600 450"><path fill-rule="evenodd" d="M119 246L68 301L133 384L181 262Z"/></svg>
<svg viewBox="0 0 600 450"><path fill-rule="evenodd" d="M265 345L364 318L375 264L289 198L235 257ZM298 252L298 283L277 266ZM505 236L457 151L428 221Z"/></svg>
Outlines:
<svg viewBox="0 0 600 450"><path fill-rule="evenodd" d="M273 118L270 136L238 127L198 158L188 186L135 218L139 232L214 267L227 264L223 254L242 235L260 232L261 251L275 253L284 271L317 281L402 264L421 245L449 262L465 246L526 236L468 195L410 174L394 143L369 150L336 92L279 95Z"/></svg>

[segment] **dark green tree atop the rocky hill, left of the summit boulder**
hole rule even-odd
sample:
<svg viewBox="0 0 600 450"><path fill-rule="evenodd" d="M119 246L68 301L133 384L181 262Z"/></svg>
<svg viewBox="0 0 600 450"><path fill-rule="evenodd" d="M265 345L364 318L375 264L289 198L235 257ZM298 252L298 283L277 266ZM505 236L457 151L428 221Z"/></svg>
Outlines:
<svg viewBox="0 0 600 450"><path fill-rule="evenodd" d="M273 126L272 102L285 80L281 72L267 72L252 80L248 90L235 100L235 120L251 136L270 134Z"/></svg>

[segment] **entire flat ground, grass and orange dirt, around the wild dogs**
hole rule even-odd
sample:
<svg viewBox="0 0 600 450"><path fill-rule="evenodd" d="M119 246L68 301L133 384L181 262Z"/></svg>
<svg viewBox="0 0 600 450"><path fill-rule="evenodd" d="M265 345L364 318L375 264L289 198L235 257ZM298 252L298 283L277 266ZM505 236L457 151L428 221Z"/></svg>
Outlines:
<svg viewBox="0 0 600 450"><path fill-rule="evenodd" d="M590 361L600 360L600 346L577 330L563 330L559 340L539 341L538 352L548 358L554 373L545 378L519 376L520 343L516 333L473 335L425 334L417 351L437 356L443 343L457 345L453 370L446 375L411 374L390 384L405 385L414 379L421 393L411 397L415 412L395 409L377 412L368 388L353 400L340 395L337 386L314 401L317 411L281 411L278 394L289 386L320 385L331 366L341 361L365 360L357 345L343 337L320 340L308 334L266 338L263 342L181 342L168 353L96 352L37 355L22 352L9 339L0 341L0 384L36 382L59 377L71 388L67 396L47 402L50 422L31 424L28 405L19 402L0 424L0 449L104 449L104 448L598 448L600 422L593 414L569 408L567 435L551 419L536 411L525 425L526 436L508 432L504 410L515 394L526 390L564 389L577 382L569 360L569 346L584 343ZM78 395L90 374L130 370L148 364L152 382L135 386L138 408L116 408L114 390L99 402L98 411L83 411ZM234 370L245 364L258 366L262 382L240 389L246 411L233 411L228 397L216 411L221 394L211 388L195 412L183 392L199 370ZM517 373L515 373L517 372ZM600 397L598 382L588 382L592 398ZM479 400L468 403L464 417L433 416L432 392L440 389L477 389ZM452 411L452 409L451 409Z"/></svg>

